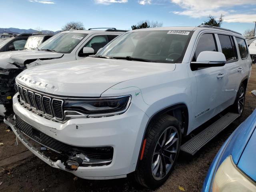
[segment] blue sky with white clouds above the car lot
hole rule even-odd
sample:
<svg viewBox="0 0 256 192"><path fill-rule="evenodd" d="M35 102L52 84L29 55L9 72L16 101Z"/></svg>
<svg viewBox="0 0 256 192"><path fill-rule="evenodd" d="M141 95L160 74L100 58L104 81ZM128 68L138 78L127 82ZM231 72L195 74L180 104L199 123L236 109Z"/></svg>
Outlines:
<svg viewBox="0 0 256 192"><path fill-rule="evenodd" d="M243 33L254 28L256 0L0 0L0 28L57 31L70 21L86 29L130 30L141 20L163 26L198 26L224 15L222 27Z"/></svg>

